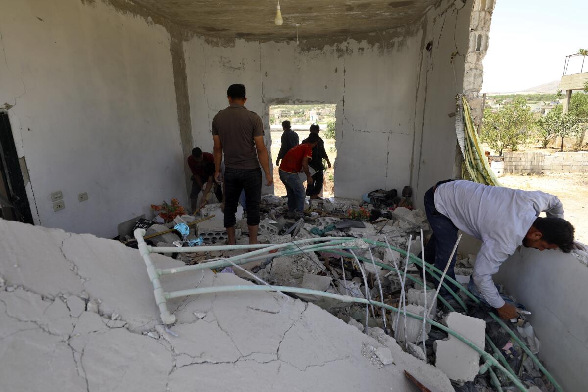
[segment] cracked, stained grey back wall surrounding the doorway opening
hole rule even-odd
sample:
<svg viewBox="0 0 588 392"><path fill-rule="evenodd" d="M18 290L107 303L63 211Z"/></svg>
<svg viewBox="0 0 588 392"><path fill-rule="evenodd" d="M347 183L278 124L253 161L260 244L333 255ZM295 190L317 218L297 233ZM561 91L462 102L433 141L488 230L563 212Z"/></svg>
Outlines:
<svg viewBox="0 0 588 392"><path fill-rule="evenodd" d="M467 51L469 3L457 11L444 1L415 24L349 39L296 45L194 36L184 48L195 146L212 150L211 120L228 106L232 83L248 89L246 106L262 116L268 148L269 106L336 103L336 195L411 185L424 189L418 205L432 183L452 175L455 126L447 114L462 91L463 58L455 70L450 62L456 46Z"/></svg>

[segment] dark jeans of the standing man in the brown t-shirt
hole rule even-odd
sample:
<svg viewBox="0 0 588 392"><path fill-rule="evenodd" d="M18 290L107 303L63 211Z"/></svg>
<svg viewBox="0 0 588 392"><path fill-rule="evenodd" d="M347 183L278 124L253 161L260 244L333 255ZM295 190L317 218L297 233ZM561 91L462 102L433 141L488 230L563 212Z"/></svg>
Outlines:
<svg viewBox="0 0 588 392"><path fill-rule="evenodd" d="M261 170L227 167L225 169L225 227L235 226L235 213L242 191L245 191L247 225L259 225Z"/></svg>

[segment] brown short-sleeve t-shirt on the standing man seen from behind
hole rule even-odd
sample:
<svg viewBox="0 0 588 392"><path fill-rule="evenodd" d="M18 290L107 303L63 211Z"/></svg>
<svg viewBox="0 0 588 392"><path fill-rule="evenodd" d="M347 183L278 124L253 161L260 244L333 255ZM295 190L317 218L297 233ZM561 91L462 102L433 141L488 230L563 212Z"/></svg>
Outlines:
<svg viewBox="0 0 588 392"><path fill-rule="evenodd" d="M240 105L220 110L212 119L212 135L219 136L225 152L225 166L257 169L259 160L253 136L263 136L263 123L257 113Z"/></svg>

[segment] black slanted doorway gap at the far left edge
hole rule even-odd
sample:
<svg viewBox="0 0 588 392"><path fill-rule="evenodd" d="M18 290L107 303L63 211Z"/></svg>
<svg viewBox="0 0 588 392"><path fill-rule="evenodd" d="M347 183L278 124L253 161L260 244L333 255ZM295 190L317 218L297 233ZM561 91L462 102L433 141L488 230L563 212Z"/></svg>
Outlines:
<svg viewBox="0 0 588 392"><path fill-rule="evenodd" d="M0 217L31 223L33 217L16 155L8 113L0 111Z"/></svg>

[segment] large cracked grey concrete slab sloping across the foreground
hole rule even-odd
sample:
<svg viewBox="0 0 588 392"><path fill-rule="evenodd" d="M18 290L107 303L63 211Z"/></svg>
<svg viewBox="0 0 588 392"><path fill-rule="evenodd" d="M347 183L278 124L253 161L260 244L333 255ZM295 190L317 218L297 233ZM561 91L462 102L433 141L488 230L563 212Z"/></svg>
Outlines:
<svg viewBox="0 0 588 392"><path fill-rule="evenodd" d="M112 240L0 220L0 248L6 390L407 391L405 370L453 390L445 374L379 329L370 329L375 339L279 293L171 300L178 322L166 330L141 256ZM152 257L158 267L184 265ZM162 284L252 283L207 270L163 277ZM392 363L369 355L379 347L389 348Z"/></svg>

